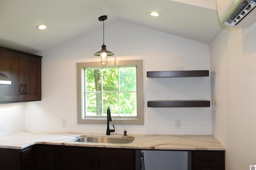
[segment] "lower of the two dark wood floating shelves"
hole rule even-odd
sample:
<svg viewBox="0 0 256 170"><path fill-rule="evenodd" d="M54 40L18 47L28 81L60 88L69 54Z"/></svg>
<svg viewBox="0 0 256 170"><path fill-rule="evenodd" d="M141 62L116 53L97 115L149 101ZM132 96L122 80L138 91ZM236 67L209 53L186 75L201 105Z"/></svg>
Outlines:
<svg viewBox="0 0 256 170"><path fill-rule="evenodd" d="M150 100L148 107L210 107L209 100Z"/></svg>

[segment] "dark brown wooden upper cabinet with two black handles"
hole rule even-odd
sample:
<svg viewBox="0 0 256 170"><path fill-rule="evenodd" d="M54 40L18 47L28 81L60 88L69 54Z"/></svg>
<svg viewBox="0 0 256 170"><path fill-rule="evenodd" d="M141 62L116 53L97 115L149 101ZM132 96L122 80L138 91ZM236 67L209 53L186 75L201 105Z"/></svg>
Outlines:
<svg viewBox="0 0 256 170"><path fill-rule="evenodd" d="M0 47L0 72L12 84L0 84L0 103L41 100L42 56Z"/></svg>

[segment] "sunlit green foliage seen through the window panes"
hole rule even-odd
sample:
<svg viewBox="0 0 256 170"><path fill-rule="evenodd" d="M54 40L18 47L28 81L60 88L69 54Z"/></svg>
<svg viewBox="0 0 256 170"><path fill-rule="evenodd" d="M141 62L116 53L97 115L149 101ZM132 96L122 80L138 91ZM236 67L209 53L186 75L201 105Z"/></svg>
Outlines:
<svg viewBox="0 0 256 170"><path fill-rule="evenodd" d="M87 68L85 80L86 115L102 115L96 108L99 103L103 115L108 107L112 116L137 115L135 66Z"/></svg>

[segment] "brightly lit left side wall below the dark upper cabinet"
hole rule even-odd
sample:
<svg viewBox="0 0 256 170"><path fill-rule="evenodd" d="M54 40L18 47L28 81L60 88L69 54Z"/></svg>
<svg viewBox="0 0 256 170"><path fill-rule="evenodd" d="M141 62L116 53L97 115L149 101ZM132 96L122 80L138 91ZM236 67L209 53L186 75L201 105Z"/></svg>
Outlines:
<svg viewBox="0 0 256 170"><path fill-rule="evenodd" d="M0 137L25 130L25 104L0 104L0 121L4 122L4 131Z"/></svg>

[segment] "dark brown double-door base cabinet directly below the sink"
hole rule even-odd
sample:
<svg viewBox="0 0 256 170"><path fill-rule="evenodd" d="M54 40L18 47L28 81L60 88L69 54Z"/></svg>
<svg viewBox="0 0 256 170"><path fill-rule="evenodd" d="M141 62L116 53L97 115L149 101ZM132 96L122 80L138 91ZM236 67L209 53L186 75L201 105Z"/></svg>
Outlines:
<svg viewBox="0 0 256 170"><path fill-rule="evenodd" d="M64 170L135 170L133 150L63 147Z"/></svg>

